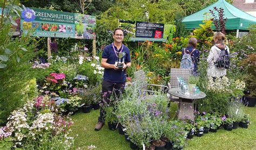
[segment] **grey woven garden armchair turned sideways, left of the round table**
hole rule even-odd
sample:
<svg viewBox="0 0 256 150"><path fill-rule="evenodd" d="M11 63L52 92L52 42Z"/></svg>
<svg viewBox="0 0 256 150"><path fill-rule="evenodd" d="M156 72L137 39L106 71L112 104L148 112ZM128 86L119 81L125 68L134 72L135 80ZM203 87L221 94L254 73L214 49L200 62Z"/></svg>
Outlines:
<svg viewBox="0 0 256 150"><path fill-rule="evenodd" d="M148 84L146 74L143 70L138 70L134 72L134 82L136 83L135 86L137 86L139 93L143 93L145 95L146 93L152 94L156 92L164 92L168 91L168 86L165 85L157 85L157 84ZM160 90L152 90L152 88L149 87L159 87Z"/></svg>

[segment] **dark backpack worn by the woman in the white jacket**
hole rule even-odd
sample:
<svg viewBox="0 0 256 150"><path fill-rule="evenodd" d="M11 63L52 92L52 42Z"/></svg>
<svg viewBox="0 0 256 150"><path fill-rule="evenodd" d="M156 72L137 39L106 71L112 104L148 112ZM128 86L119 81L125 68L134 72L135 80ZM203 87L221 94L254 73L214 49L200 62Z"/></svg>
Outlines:
<svg viewBox="0 0 256 150"><path fill-rule="evenodd" d="M220 49L221 52L214 65L218 69L229 69L230 68L230 54L227 51L227 47Z"/></svg>

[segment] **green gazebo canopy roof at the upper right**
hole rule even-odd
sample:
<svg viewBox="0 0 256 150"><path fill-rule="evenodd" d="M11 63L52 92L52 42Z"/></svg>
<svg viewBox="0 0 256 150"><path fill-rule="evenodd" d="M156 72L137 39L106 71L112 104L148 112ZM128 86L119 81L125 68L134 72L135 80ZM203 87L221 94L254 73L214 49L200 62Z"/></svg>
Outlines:
<svg viewBox="0 0 256 150"><path fill-rule="evenodd" d="M203 24L204 13L210 12L209 10L213 10L214 6L224 9L224 17L227 18L225 25L226 30L248 30L250 25L256 24L256 17L253 17L248 13L235 8L225 0L219 0L207 8L185 17L182 21L182 23L185 24L185 28L188 30L198 28L199 24ZM211 14L210 16L212 17Z"/></svg>

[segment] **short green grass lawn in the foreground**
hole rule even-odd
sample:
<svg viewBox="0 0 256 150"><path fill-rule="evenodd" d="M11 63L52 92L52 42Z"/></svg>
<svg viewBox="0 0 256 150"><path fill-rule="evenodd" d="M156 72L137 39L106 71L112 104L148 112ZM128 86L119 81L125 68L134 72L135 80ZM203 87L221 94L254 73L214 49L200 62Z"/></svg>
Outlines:
<svg viewBox="0 0 256 150"><path fill-rule="evenodd" d="M251 117L248 129L238 128L229 132L219 129L217 133L210 132L203 137L187 140L185 149L256 149L256 107L246 107L245 110ZM94 130L98 115L99 110L72 115L72 135L78 135L75 140L76 149L87 149L90 145L95 145L96 149L130 149L129 142L125 141L124 135L120 135L118 130L110 131L107 125L100 131Z"/></svg>

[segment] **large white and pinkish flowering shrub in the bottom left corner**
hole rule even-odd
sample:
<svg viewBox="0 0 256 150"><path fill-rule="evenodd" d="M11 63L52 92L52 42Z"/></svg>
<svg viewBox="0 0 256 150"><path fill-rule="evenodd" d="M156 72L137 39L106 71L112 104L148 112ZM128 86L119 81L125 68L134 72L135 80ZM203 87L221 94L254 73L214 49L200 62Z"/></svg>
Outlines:
<svg viewBox="0 0 256 150"><path fill-rule="evenodd" d="M69 103L78 105L79 102L75 99L77 98L71 98ZM70 148L74 140L69 137L73 122L70 118L58 115L56 108L53 108L55 106L48 96L39 96L35 100L27 101L22 108L11 113L6 127L1 127L0 141L10 138L14 148L38 149L42 143L52 148L52 139L56 139L58 148ZM54 148L54 145L52 146Z"/></svg>

